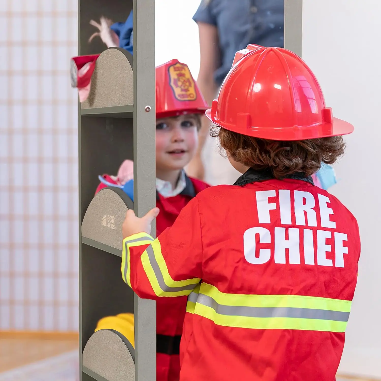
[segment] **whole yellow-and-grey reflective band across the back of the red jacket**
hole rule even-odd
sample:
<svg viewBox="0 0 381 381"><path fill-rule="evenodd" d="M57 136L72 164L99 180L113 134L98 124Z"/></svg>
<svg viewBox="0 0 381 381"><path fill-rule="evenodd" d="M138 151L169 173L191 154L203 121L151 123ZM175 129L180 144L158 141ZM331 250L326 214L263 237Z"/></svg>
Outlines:
<svg viewBox="0 0 381 381"><path fill-rule="evenodd" d="M351 301L299 295L226 294L206 283L201 284L198 295L189 296L188 304L189 312L227 327L330 332L345 331L351 309Z"/></svg>

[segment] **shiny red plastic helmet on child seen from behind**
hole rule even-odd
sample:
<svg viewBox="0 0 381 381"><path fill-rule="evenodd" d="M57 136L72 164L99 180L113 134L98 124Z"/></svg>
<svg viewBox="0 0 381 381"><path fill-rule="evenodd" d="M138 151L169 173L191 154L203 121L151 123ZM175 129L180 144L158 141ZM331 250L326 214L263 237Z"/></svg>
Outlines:
<svg viewBox="0 0 381 381"><path fill-rule="evenodd" d="M271 140L323 138L354 130L333 117L319 82L300 57L258 45L235 54L206 115L226 130Z"/></svg>

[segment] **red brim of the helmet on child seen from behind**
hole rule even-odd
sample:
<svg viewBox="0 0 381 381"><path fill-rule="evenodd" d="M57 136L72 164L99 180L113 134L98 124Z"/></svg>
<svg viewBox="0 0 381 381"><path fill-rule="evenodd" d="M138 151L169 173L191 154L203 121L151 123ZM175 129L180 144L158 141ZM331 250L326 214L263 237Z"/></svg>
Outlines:
<svg viewBox="0 0 381 381"><path fill-rule="evenodd" d="M283 141L296 141L316 138L327 138L330 136L347 135L354 131L354 126L351 123L341 120L339 118L332 118L331 122L321 123L320 125L312 126L290 126L288 128L282 127L256 127L245 125L246 118L242 118L241 131L237 131L237 124L229 125L228 123L221 123L221 121L212 116L212 109L205 112L208 119L216 125L224 128L225 130L242 133L243 135L253 136L260 139L268 140L283 140ZM247 118L250 119L250 118ZM247 120L246 119L246 120Z"/></svg>

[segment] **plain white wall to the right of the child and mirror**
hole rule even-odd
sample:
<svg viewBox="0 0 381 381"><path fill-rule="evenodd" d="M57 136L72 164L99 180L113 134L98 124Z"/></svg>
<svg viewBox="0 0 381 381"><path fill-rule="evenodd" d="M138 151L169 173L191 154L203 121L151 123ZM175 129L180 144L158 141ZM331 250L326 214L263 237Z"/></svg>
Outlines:
<svg viewBox="0 0 381 381"><path fill-rule="evenodd" d="M381 2L303 0L302 57L327 106L355 126L332 189L359 222L362 257L341 373L381 377Z"/></svg>

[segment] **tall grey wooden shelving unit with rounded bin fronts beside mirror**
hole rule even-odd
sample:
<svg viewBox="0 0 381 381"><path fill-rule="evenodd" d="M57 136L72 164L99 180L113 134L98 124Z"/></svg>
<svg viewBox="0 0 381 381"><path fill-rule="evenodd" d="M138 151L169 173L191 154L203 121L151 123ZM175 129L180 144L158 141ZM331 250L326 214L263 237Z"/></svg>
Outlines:
<svg viewBox="0 0 381 381"><path fill-rule="evenodd" d="M100 39L88 43L91 19L124 21L131 9L133 56L106 50ZM120 273L127 208L142 216L155 207L154 18L154 0L78 0L78 52L101 53L88 100L79 106L81 381L156 377L155 303L134 295ZM94 197L98 175L116 174L125 159L134 161L134 203L117 188ZM122 312L134 312L135 349L115 331L94 334L99 319Z"/></svg>

